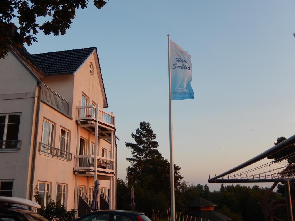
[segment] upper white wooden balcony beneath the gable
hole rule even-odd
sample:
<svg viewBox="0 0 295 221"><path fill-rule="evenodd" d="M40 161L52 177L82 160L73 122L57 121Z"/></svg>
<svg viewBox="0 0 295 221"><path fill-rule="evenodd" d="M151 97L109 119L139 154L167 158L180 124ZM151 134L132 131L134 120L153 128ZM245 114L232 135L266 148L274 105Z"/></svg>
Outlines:
<svg viewBox="0 0 295 221"><path fill-rule="evenodd" d="M93 105L78 106L78 117L76 121L94 123L96 121L96 107ZM115 116L102 109L98 109L98 122L115 127Z"/></svg>

